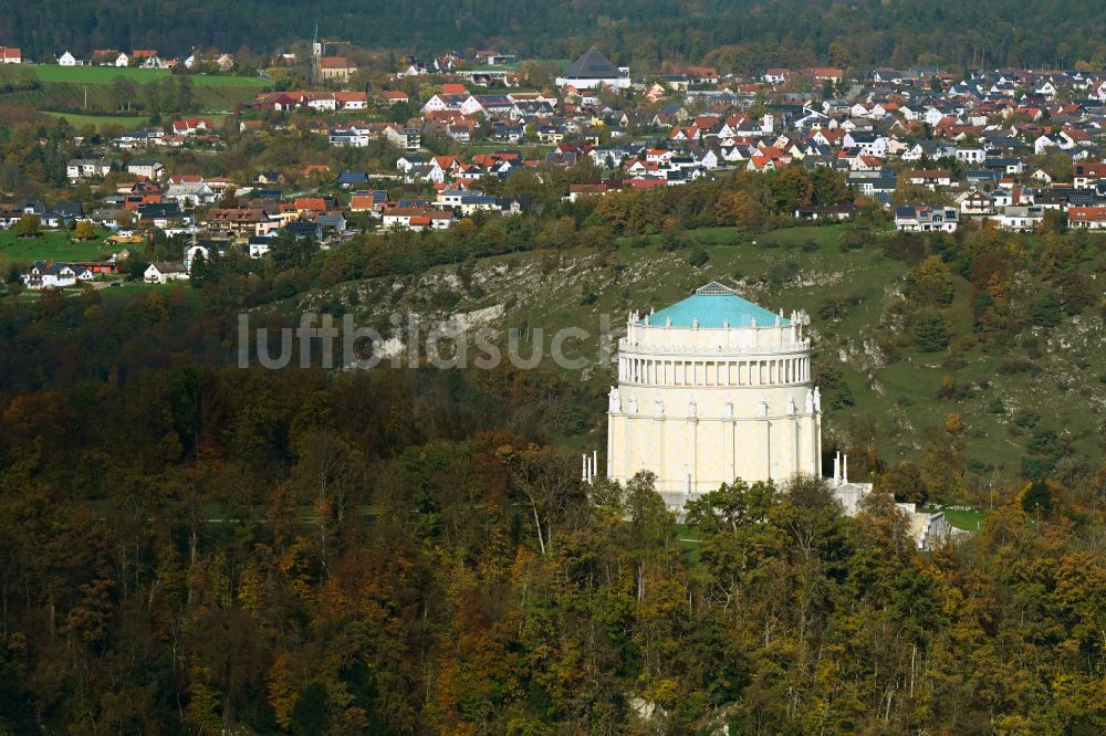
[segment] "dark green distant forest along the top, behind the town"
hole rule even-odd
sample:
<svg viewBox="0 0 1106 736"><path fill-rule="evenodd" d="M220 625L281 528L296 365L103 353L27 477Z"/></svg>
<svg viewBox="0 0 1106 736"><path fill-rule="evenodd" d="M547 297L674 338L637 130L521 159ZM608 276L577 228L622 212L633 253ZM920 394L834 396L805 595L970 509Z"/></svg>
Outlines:
<svg viewBox="0 0 1106 736"><path fill-rule="evenodd" d="M501 46L520 56L561 59L599 44L639 70L665 61L714 61L727 69L827 61L859 66L942 62L950 66L1103 66L1106 2L1071 12L1058 0L469 0L403 4L384 0L216 2L63 0L10 3L0 39L35 56L69 49L156 48L181 54L194 45L258 51L323 35L369 49L426 53ZM265 46L265 48L259 48Z"/></svg>

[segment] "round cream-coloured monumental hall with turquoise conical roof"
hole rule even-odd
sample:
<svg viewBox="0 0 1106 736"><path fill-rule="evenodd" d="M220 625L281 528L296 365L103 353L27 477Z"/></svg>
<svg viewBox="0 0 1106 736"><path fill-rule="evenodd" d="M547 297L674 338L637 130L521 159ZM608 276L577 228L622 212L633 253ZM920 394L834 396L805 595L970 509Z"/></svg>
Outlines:
<svg viewBox="0 0 1106 736"><path fill-rule="evenodd" d="M712 282L618 344L607 476L657 476L669 506L723 482L821 475L822 407L802 325Z"/></svg>

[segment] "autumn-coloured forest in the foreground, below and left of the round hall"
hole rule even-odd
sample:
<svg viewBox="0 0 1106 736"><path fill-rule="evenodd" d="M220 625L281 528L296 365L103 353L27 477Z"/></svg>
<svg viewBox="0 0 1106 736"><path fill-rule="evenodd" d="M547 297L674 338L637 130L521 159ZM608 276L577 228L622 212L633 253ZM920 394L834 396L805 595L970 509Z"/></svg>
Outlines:
<svg viewBox="0 0 1106 736"><path fill-rule="evenodd" d="M677 526L543 445L578 387L220 369L232 316L188 294L7 305L0 376L39 390L0 416L0 733L1106 725L1103 472L926 555L814 481Z"/></svg>

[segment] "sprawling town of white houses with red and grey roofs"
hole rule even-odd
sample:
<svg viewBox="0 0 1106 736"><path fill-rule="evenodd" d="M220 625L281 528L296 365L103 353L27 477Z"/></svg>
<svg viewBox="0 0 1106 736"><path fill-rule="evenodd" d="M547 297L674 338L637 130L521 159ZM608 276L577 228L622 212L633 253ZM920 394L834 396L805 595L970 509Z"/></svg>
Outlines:
<svg viewBox="0 0 1106 736"><path fill-rule="evenodd" d="M512 174L529 170L543 181L545 172L586 164L591 175L567 183L564 201L802 167L844 177L853 198L796 209L796 220L842 221L875 207L905 231L989 221L1031 232L1050 213L1074 228L1106 228L1106 74L1003 69L961 76L915 67L849 80L842 69L810 67L738 76L706 66L617 67L592 48L547 87L528 87L514 55L481 51L471 60L456 52L409 57L385 88L356 91L345 88L356 65L323 55L323 45L310 60L312 88L260 92L219 122L197 115L92 140L74 136L82 157L66 162L65 177L91 197L9 202L0 224L27 217L43 229L80 221L156 229L188 243L181 266L197 250L261 257L281 232L327 248L358 232L524 214L529 197L495 193ZM27 62L18 49L0 55ZM234 63L212 56L215 71ZM275 62L294 64L295 55ZM138 49L88 60L65 52L56 63L170 69L199 59ZM352 157L372 147L371 165L309 162L230 178L181 162L185 153L217 155L228 137L289 133L353 149L345 154ZM48 264L56 278L35 269L23 276L31 288L88 277L81 264ZM187 277L187 269L173 269L163 264L147 281Z"/></svg>

